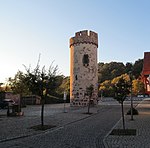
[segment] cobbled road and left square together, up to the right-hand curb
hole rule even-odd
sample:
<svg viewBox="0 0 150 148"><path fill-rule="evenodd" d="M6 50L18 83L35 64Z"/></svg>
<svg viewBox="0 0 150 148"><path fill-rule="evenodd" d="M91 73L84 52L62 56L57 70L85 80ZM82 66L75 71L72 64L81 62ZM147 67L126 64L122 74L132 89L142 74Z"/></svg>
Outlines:
<svg viewBox="0 0 150 148"><path fill-rule="evenodd" d="M128 108L128 107L127 107ZM120 119L120 106L99 105L70 108L66 105L45 107L45 124L56 128L44 132L29 129L40 123L38 106L23 109L23 117L0 118L0 148L104 148L103 138Z"/></svg>

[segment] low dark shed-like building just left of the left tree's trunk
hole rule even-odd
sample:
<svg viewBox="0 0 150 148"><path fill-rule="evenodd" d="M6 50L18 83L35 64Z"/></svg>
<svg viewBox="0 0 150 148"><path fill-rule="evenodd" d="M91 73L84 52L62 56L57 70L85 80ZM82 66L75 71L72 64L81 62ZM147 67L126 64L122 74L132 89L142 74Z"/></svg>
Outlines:
<svg viewBox="0 0 150 148"><path fill-rule="evenodd" d="M41 103L41 97L37 95L25 96L22 98L23 105L38 105Z"/></svg>

